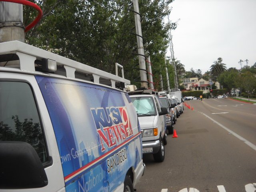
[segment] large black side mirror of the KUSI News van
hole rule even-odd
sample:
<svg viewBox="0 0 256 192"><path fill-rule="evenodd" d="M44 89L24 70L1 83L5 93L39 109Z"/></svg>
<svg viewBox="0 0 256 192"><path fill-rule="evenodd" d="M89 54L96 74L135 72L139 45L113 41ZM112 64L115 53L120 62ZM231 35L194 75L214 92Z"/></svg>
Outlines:
<svg viewBox="0 0 256 192"><path fill-rule="evenodd" d="M48 184L36 150L26 142L0 142L0 189L41 188Z"/></svg>

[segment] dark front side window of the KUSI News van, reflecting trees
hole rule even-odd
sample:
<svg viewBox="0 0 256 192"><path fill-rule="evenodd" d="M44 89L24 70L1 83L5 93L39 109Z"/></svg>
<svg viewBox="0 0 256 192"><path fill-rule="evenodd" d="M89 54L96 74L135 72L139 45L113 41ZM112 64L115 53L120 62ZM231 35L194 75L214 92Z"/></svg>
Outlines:
<svg viewBox="0 0 256 192"><path fill-rule="evenodd" d="M29 84L0 81L0 93L0 141L27 142L46 162L42 126Z"/></svg>

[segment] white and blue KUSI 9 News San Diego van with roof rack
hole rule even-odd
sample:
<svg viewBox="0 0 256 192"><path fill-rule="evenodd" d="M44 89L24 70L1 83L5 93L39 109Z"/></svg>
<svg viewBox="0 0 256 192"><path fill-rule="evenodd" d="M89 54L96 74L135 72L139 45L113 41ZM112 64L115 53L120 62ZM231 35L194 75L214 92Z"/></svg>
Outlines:
<svg viewBox="0 0 256 192"><path fill-rule="evenodd" d="M134 191L142 133L116 88L126 83L19 41L0 43L1 191Z"/></svg>

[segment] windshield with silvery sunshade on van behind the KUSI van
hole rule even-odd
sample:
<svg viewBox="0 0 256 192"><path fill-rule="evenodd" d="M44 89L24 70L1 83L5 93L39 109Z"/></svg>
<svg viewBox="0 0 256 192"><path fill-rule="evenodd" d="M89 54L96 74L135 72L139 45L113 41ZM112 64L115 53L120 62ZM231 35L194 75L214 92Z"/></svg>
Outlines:
<svg viewBox="0 0 256 192"><path fill-rule="evenodd" d="M156 107L152 97L131 97L138 116L156 116Z"/></svg>

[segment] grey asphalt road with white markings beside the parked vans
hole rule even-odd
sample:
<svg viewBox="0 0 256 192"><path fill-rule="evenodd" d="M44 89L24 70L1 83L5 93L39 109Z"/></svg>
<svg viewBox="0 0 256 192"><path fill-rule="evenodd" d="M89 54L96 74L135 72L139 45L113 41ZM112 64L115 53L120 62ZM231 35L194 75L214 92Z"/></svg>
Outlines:
<svg viewBox="0 0 256 192"><path fill-rule="evenodd" d="M254 192L256 105L226 98L186 104L190 109L184 106L174 125L178 138L168 135L164 162L143 156L137 192Z"/></svg>

